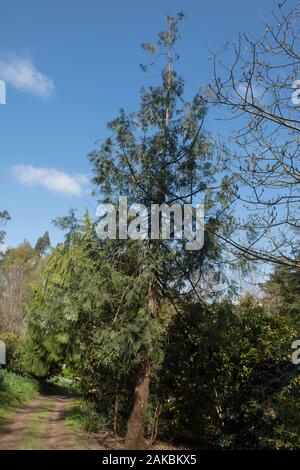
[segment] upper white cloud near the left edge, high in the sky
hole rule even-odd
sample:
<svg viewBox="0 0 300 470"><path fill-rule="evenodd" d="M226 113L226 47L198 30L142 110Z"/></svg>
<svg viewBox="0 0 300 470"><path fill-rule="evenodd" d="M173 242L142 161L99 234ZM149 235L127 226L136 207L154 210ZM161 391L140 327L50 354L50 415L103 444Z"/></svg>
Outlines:
<svg viewBox="0 0 300 470"><path fill-rule="evenodd" d="M39 72L30 59L17 54L0 55L0 79L42 98L48 98L54 92L51 78Z"/></svg>

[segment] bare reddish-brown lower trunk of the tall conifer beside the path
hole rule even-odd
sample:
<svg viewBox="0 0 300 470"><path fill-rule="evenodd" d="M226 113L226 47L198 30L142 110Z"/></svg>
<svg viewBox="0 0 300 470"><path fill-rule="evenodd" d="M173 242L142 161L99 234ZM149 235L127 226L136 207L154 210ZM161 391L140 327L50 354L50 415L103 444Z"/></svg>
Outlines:
<svg viewBox="0 0 300 470"><path fill-rule="evenodd" d="M134 391L133 409L127 424L125 439L127 450L145 449L144 427L149 398L150 371L150 361L146 360L140 365Z"/></svg>

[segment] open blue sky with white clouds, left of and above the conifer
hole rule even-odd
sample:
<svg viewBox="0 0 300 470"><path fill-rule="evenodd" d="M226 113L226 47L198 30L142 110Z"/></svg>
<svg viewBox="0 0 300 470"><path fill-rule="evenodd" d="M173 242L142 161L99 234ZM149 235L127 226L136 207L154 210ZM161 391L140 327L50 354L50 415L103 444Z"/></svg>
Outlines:
<svg viewBox="0 0 300 470"><path fill-rule="evenodd" d="M179 72L187 93L208 83L205 45L217 49L239 32L261 31L259 14L271 0L1 0L0 209L12 220L6 242L30 242L70 207L96 205L88 182L87 154L107 136L118 109L134 110L139 88L156 76L143 74L140 44L164 29L164 16L183 10ZM213 120L208 126L214 131ZM217 128L217 127L216 127Z"/></svg>

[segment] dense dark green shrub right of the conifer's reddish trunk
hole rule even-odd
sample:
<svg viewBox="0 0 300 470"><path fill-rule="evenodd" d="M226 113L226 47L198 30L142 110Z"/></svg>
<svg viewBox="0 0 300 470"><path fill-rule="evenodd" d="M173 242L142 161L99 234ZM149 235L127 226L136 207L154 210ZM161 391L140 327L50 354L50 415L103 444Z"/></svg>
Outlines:
<svg viewBox="0 0 300 470"><path fill-rule="evenodd" d="M297 334L291 320L251 302L176 317L159 384L161 432L203 447L298 448Z"/></svg>

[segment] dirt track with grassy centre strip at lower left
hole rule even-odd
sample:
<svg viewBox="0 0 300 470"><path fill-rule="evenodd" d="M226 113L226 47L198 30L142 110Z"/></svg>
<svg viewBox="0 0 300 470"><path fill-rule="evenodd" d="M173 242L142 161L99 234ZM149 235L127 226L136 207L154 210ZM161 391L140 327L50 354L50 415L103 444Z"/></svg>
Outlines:
<svg viewBox="0 0 300 470"><path fill-rule="evenodd" d="M0 450L73 449L64 422L68 405L65 396L40 395L0 429Z"/></svg>

